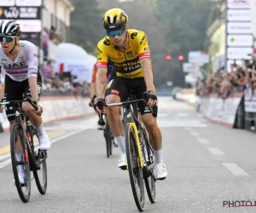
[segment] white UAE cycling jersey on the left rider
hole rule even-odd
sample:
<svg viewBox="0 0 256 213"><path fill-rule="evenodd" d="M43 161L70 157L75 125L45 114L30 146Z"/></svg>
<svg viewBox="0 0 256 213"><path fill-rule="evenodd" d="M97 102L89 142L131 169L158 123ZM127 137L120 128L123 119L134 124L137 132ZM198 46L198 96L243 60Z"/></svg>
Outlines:
<svg viewBox="0 0 256 213"><path fill-rule="evenodd" d="M2 66L1 83L4 83L5 75L14 81L24 81L29 77L38 76L38 49L35 44L28 41L20 41L20 52L15 61L12 61L3 53L0 45L0 66Z"/></svg>

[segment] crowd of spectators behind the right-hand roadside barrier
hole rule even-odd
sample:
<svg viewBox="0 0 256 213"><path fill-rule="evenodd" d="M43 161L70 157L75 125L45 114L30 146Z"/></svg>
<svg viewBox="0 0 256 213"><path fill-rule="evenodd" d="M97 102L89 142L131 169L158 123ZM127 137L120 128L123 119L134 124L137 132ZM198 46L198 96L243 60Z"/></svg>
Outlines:
<svg viewBox="0 0 256 213"><path fill-rule="evenodd" d="M196 95L205 96L216 93L225 99L232 93L247 88L251 88L252 91L256 89L256 55L253 55L253 60L242 60L241 66L238 66L235 61L230 67L230 72L225 72L222 67L212 73L209 78L202 79L197 84Z"/></svg>

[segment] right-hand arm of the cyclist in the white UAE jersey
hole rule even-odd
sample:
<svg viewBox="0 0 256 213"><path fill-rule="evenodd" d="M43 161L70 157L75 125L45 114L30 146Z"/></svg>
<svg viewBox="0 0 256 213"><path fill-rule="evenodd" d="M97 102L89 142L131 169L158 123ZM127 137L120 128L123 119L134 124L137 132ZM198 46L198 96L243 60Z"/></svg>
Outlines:
<svg viewBox="0 0 256 213"><path fill-rule="evenodd" d="M28 64L28 83L31 91L31 96L38 103L38 56L35 45L29 46L27 49L27 64Z"/></svg>

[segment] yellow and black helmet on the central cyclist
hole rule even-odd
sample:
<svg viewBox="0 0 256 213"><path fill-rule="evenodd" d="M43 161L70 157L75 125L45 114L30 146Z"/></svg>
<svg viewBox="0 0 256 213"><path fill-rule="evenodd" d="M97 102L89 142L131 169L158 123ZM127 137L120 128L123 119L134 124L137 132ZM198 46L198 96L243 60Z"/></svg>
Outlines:
<svg viewBox="0 0 256 213"><path fill-rule="evenodd" d="M128 16L122 9L109 9L103 17L105 30L115 30L124 28L127 25Z"/></svg>

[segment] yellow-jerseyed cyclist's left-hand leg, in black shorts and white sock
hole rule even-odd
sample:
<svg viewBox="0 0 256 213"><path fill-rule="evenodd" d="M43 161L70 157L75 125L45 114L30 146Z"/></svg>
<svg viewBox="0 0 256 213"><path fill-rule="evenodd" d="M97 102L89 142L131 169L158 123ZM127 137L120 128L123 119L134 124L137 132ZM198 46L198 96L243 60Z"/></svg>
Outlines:
<svg viewBox="0 0 256 213"><path fill-rule="evenodd" d="M108 83L105 92L106 103L125 101L128 98L129 89L126 87L124 78L114 78ZM113 132L116 142L119 145L121 156L119 157L120 168L126 166L124 124L119 116L119 107L108 107L108 124Z"/></svg>

